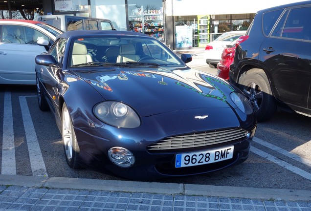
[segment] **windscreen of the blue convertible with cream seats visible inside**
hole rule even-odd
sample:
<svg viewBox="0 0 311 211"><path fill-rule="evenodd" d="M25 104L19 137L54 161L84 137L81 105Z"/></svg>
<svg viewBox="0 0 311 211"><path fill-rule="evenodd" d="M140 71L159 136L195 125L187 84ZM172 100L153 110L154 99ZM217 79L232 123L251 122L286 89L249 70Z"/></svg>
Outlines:
<svg viewBox="0 0 311 211"><path fill-rule="evenodd" d="M158 44L150 41L127 39L90 39L74 42L70 65L101 62L140 62L180 64Z"/></svg>

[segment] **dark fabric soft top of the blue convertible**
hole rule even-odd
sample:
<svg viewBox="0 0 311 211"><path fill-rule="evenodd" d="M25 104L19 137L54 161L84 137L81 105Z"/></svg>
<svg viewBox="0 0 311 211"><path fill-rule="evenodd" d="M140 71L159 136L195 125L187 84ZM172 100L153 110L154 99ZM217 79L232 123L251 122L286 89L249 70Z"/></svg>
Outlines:
<svg viewBox="0 0 311 211"><path fill-rule="evenodd" d="M79 36L93 36L93 35L113 35L113 36L136 36L136 37L149 37L148 35L129 32L129 31L116 31L116 30L75 30L67 31L59 36L59 38L79 37Z"/></svg>

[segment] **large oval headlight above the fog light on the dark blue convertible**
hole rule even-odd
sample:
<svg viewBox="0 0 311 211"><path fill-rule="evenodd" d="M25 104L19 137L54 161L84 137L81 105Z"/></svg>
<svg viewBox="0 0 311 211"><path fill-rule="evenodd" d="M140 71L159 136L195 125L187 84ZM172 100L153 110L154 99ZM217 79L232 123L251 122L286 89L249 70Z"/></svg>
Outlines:
<svg viewBox="0 0 311 211"><path fill-rule="evenodd" d="M105 101L95 105L93 111L98 119L115 127L140 126L140 119L136 112L124 103Z"/></svg>

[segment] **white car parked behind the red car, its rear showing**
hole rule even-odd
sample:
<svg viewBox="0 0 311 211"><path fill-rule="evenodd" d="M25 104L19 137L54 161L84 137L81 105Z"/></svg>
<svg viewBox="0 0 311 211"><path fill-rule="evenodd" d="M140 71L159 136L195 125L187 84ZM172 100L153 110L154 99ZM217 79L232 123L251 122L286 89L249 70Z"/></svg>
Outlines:
<svg viewBox="0 0 311 211"><path fill-rule="evenodd" d="M209 42L204 51L204 60L211 67L216 68L217 63L221 61L222 51L227 44L237 40L245 35L246 31L225 32L213 42Z"/></svg>

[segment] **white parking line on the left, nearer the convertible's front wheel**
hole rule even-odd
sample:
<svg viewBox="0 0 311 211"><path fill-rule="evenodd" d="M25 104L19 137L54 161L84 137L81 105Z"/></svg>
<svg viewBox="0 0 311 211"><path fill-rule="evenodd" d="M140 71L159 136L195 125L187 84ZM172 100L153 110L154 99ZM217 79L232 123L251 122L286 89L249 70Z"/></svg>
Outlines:
<svg viewBox="0 0 311 211"><path fill-rule="evenodd" d="M25 96L20 96L20 104L32 174L33 176L48 176Z"/></svg>

